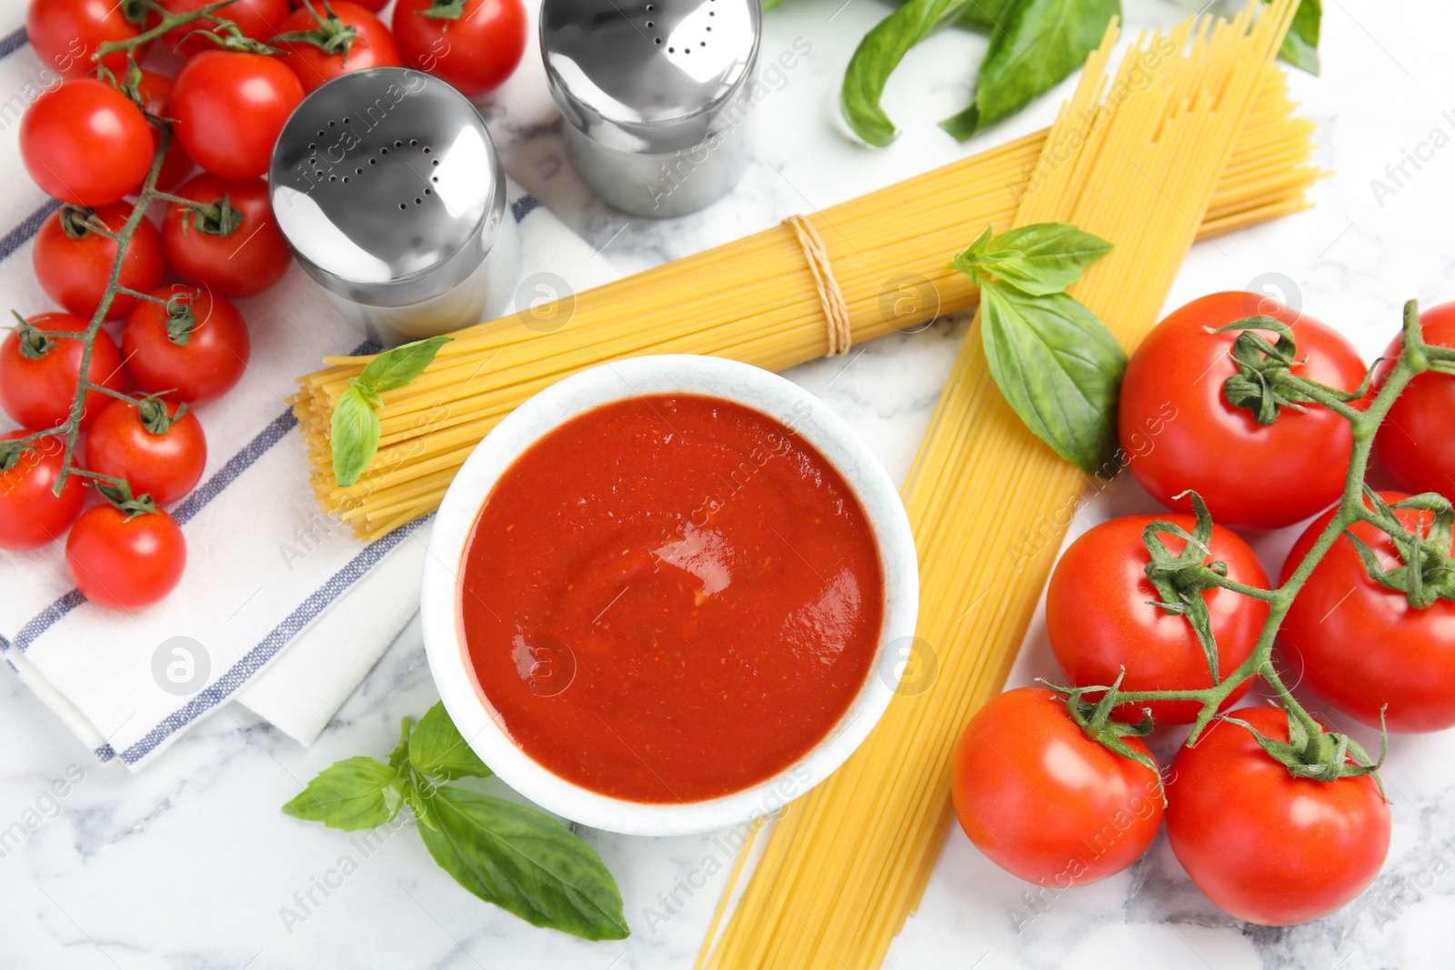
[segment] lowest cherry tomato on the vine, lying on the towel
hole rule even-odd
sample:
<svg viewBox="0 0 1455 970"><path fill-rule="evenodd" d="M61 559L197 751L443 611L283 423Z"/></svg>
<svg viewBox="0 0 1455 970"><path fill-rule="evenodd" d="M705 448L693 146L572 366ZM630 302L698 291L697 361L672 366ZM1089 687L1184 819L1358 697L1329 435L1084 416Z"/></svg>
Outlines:
<svg viewBox="0 0 1455 970"><path fill-rule="evenodd" d="M76 589L97 606L141 609L182 582L186 540L166 512L128 516L113 505L97 505L71 526L65 566Z"/></svg>

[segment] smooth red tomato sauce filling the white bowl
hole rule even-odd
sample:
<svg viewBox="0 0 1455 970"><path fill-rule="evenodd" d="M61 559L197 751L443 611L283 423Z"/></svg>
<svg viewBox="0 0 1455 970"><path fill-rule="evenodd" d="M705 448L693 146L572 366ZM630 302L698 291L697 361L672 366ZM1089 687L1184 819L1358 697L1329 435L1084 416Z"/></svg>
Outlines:
<svg viewBox="0 0 1455 970"><path fill-rule="evenodd" d="M858 499L741 404L636 397L531 445L464 553L489 705L540 765L647 803L783 771L842 717L883 618Z"/></svg>

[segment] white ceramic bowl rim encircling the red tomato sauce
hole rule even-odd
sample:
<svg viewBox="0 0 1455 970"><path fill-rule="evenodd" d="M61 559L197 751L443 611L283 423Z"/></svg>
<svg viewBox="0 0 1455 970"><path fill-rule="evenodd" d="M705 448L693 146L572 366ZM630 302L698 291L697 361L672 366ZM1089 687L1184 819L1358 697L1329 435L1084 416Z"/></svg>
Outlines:
<svg viewBox="0 0 1455 970"><path fill-rule="evenodd" d="M838 470L864 508L885 580L874 663L844 717L797 762L751 788L706 801L656 804L591 791L553 774L501 729L464 647L460 572L466 544L501 474L537 439L585 412L637 394L704 394L745 404L794 428ZM920 576L909 521L889 476L821 400L777 374L720 358L642 356L594 366L541 391L502 420L460 468L429 537L420 614L439 697L470 747L515 791L573 822L626 835L688 835L783 807L844 763L883 716L911 643Z"/></svg>

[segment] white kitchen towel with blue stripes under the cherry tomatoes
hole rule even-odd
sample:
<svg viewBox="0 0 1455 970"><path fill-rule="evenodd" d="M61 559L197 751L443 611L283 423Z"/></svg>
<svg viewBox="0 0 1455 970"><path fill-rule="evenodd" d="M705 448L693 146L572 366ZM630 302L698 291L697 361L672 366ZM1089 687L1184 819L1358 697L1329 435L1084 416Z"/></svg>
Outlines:
<svg viewBox="0 0 1455 970"><path fill-rule="evenodd" d="M17 6L7 4L13 22ZM23 29L0 38L0 173L12 186L0 198L0 308L22 314L54 308L35 281L31 239L55 204L17 150L19 113L49 83ZM514 185L509 201L522 279L615 278ZM144 765L230 700L307 745L419 606L428 521L365 544L324 516L287 404L300 374L365 349L364 334L297 266L237 304L252 361L237 388L196 409L207 471L170 509L188 541L180 586L150 609L105 611L73 588L61 544L0 553L0 656L102 761Z"/></svg>

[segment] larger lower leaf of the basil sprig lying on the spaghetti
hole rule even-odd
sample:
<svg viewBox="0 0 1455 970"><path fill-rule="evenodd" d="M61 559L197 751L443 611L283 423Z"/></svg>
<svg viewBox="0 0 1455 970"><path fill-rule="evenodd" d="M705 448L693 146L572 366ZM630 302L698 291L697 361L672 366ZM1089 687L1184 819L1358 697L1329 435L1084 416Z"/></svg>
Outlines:
<svg viewBox="0 0 1455 970"><path fill-rule="evenodd" d="M1116 448L1126 353L1068 294L1032 297L1000 281L981 286L981 339L991 378L1026 426L1083 471Z"/></svg>

